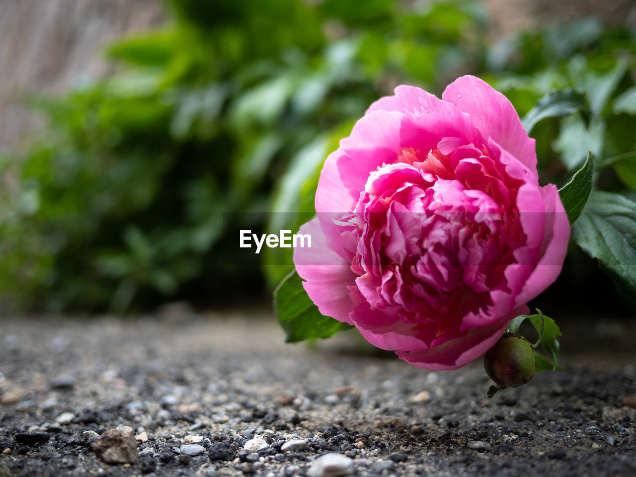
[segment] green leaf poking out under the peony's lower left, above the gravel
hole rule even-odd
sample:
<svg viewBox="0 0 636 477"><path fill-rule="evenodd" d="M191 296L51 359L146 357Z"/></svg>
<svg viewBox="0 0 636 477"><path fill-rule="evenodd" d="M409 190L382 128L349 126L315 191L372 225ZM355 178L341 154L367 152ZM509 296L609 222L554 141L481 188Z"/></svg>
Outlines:
<svg viewBox="0 0 636 477"><path fill-rule="evenodd" d="M324 316L303 288L303 279L294 270L274 291L274 309L286 342L295 343L310 338L329 336L352 328L350 324Z"/></svg>

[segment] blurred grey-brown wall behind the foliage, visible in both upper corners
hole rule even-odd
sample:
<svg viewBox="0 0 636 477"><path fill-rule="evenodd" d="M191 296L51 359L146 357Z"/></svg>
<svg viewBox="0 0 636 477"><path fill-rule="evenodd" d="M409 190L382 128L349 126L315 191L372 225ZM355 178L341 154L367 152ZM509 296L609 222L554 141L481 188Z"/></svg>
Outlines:
<svg viewBox="0 0 636 477"><path fill-rule="evenodd" d="M634 0L481 1L492 38L583 15L636 21ZM59 93L103 76L109 69L99 55L103 45L163 21L158 0L0 0L0 149L20 148L40 125L20 106L24 93Z"/></svg>

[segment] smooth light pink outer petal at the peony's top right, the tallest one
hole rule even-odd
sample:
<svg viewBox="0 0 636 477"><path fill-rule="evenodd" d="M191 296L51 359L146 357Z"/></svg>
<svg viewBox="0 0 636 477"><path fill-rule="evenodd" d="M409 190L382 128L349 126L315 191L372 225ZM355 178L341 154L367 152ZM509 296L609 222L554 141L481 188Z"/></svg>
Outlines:
<svg viewBox="0 0 636 477"><path fill-rule="evenodd" d="M538 176L535 141L528 137L515 107L502 93L479 78L462 76L446 86L442 99L470 114L485 137L492 137Z"/></svg>

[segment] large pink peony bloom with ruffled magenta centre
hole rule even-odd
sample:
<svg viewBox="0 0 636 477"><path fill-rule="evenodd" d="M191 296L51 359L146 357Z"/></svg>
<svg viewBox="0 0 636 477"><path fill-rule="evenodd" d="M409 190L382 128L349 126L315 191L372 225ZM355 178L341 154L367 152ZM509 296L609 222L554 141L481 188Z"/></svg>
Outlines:
<svg viewBox="0 0 636 477"><path fill-rule="evenodd" d="M294 264L322 314L409 363L484 354L560 273L570 227L511 103L463 76L373 103L328 156Z"/></svg>

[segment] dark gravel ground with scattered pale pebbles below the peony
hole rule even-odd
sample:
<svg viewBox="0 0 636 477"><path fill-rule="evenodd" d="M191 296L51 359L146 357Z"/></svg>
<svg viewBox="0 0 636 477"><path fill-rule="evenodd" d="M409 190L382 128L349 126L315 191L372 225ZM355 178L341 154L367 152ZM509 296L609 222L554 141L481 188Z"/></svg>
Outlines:
<svg viewBox="0 0 636 477"><path fill-rule="evenodd" d="M636 475L634 331L488 399L481 363L286 345L258 312L3 318L0 477Z"/></svg>

